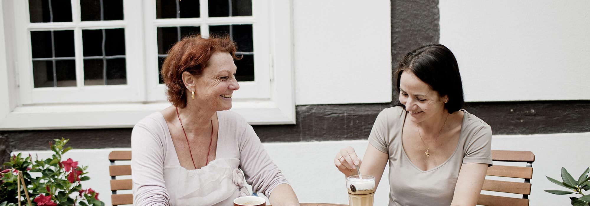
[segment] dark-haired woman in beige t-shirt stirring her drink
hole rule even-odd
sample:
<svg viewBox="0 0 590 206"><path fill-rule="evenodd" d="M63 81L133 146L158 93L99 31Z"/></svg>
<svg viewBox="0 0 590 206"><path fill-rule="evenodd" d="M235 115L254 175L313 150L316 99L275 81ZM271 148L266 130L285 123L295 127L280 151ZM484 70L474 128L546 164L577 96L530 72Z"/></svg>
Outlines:
<svg viewBox="0 0 590 206"><path fill-rule="evenodd" d="M491 166L491 128L461 109L463 87L453 52L440 44L406 54L395 71L399 105L383 109L363 161L352 147L334 164L379 184L389 163L389 206L476 205ZM361 165L362 164L362 165Z"/></svg>

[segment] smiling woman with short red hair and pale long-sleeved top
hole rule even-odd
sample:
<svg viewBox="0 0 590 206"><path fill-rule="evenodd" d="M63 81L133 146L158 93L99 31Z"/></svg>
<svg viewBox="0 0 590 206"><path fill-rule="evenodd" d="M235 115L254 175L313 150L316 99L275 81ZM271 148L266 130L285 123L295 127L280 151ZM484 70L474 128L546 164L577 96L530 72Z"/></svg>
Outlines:
<svg viewBox="0 0 590 206"><path fill-rule="evenodd" d="M172 106L131 135L134 205L233 205L250 193L244 178L273 205L299 205L254 129L226 111L240 88L235 51L228 36L194 35L168 52L161 74Z"/></svg>

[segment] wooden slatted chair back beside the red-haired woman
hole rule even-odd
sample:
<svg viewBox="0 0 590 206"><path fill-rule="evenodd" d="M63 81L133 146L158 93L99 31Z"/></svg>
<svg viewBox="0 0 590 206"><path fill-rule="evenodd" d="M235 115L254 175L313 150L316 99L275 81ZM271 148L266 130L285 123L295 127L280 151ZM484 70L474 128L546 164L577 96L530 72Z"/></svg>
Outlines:
<svg viewBox="0 0 590 206"><path fill-rule="evenodd" d="M133 182L131 179L117 180L117 176L131 175L131 165L115 165L114 161L131 160L131 151L112 151L109 154L109 175L111 177L111 204L127 205L133 204L133 194L117 194L119 190L132 190Z"/></svg>

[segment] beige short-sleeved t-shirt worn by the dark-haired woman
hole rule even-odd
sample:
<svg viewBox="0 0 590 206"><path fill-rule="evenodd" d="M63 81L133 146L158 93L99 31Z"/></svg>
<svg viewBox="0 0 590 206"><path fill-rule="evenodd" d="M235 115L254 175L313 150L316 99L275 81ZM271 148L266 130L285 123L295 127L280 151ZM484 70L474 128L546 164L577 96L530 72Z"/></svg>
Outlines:
<svg viewBox="0 0 590 206"><path fill-rule="evenodd" d="M451 205L461 164L491 166L491 127L464 112L455 152L438 167L422 171L409 160L402 147L402 128L407 112L402 107L383 109L369 135L369 143L389 154L389 206Z"/></svg>

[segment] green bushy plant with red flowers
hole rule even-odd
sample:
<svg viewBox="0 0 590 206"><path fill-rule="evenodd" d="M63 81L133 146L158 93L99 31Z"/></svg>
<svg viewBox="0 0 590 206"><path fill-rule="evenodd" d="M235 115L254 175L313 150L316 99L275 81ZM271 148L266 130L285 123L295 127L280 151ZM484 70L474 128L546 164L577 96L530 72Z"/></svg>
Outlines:
<svg viewBox="0 0 590 206"><path fill-rule="evenodd" d="M30 154L28 157L22 157L19 153L4 163L8 168L2 171L0 176L0 206L14 206L19 202L28 205L29 201L26 200L23 188L27 188L26 192L31 198L32 206L104 205L104 202L99 200L98 192L91 188L82 189L81 181L90 180L90 177L86 176L88 167L78 166L78 162L71 158L62 161L62 155L71 149L65 147L68 139L54 141L55 144L50 142L50 148L55 152L51 158L39 160L37 157L32 161ZM17 183L19 172L22 172L24 187L22 181ZM18 197L19 191L21 197Z"/></svg>

